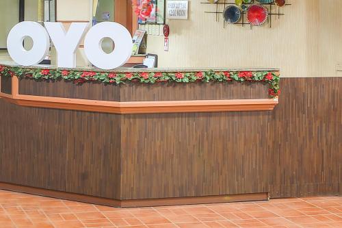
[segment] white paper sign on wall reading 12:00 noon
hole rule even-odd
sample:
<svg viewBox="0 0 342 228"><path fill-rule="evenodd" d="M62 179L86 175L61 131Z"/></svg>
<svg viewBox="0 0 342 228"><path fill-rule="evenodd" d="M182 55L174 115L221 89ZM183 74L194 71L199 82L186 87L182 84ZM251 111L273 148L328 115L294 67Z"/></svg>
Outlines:
<svg viewBox="0 0 342 228"><path fill-rule="evenodd" d="M166 3L166 9L166 17L168 19L187 20L188 1L170 0Z"/></svg>

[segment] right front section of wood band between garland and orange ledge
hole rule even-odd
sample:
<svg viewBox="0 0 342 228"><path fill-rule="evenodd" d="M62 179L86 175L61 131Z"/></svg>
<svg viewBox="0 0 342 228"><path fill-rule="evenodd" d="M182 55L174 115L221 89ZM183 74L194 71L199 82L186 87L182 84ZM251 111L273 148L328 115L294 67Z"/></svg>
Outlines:
<svg viewBox="0 0 342 228"><path fill-rule="evenodd" d="M188 101L268 98L267 84L233 83L159 83L120 86L121 101Z"/></svg>

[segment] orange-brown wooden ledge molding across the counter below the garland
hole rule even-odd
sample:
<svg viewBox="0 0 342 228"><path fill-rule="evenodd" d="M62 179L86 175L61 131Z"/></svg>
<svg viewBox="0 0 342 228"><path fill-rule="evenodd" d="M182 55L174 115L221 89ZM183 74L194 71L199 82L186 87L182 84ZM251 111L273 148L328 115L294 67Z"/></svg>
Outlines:
<svg viewBox="0 0 342 228"><path fill-rule="evenodd" d="M45 107L60 110L104 112L111 114L269 111L274 110L274 107L278 104L278 99L120 102L70 99L63 97L41 97L19 94L18 77L12 77L12 94L0 92L0 97L10 103L26 107Z"/></svg>

